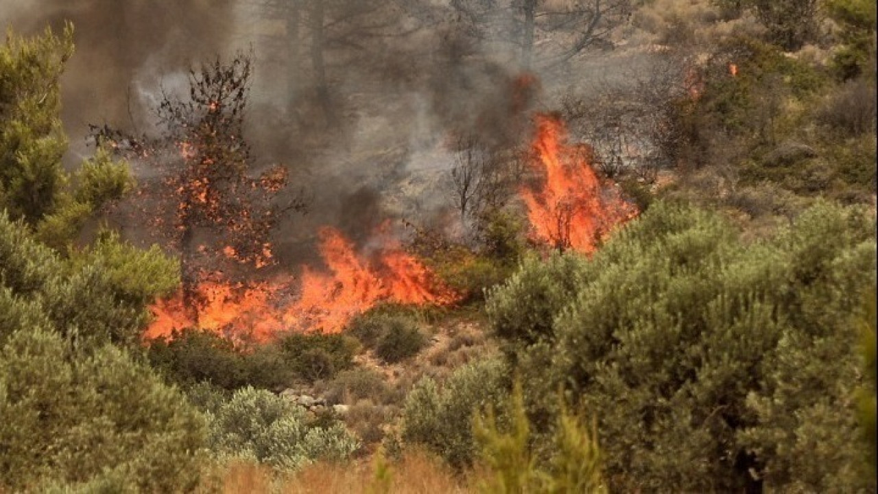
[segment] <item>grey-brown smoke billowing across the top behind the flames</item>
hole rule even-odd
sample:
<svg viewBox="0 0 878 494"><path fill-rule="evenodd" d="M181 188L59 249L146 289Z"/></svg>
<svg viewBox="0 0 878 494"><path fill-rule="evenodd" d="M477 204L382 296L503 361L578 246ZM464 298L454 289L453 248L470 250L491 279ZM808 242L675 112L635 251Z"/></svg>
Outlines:
<svg viewBox="0 0 878 494"><path fill-rule="evenodd" d="M315 47L318 2L327 18ZM284 11L292 4L0 0L0 25L25 34L75 25L62 79L71 165L90 153L89 124L150 132L162 89L184 90L193 66L252 47L245 136L262 163L286 165L312 203L306 217L280 224L278 257L291 264L320 225L366 242L388 216L442 217L454 136L475 134L492 148L527 141L540 74L522 77L515 49L481 40L448 2L300 0L299 11Z"/></svg>

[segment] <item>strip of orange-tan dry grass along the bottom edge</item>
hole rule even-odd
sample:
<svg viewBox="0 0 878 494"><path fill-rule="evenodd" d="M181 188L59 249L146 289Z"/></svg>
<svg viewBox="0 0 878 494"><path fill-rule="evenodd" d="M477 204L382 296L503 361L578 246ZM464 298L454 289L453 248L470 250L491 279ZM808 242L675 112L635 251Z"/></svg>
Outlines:
<svg viewBox="0 0 878 494"><path fill-rule="evenodd" d="M343 464L315 463L293 476L252 463L235 462L219 474L219 492L290 494L351 494L399 493L423 494L428 492L464 493L471 489L442 461L421 452L408 452L402 459L387 463L385 476L378 459ZM211 489L210 491L217 491Z"/></svg>

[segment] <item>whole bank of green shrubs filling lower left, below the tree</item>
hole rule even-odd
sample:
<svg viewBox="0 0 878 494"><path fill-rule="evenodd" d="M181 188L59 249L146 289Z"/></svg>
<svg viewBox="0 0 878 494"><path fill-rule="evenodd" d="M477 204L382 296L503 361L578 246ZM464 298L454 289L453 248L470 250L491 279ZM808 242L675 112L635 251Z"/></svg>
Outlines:
<svg viewBox="0 0 878 494"><path fill-rule="evenodd" d="M114 345L176 280L112 236L61 258L0 212L0 490L195 486L204 419Z"/></svg>

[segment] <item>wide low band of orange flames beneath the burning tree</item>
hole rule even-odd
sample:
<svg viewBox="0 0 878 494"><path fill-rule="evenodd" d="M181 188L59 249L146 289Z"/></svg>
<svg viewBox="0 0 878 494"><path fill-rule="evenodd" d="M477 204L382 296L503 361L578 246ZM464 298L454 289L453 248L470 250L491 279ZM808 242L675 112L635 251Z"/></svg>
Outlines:
<svg viewBox="0 0 878 494"><path fill-rule="evenodd" d="M231 338L246 335L265 341L282 331L342 331L352 317L381 301L448 304L457 300L421 261L385 235L378 235L382 247L371 256L358 254L336 229L320 229L319 237L326 270L303 266L299 282L245 286L205 281L198 285L198 300L187 304L181 292L157 303L155 322L145 337L168 337L175 329L198 327Z"/></svg>

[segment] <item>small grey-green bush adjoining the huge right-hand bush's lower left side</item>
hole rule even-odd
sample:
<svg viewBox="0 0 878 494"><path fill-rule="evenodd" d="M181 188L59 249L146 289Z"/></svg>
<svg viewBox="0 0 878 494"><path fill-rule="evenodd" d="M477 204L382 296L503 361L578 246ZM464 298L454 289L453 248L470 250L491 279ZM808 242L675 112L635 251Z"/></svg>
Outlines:
<svg viewBox="0 0 878 494"><path fill-rule="evenodd" d="M401 439L456 469L470 465L477 451L469 427L473 410L499 410L504 368L500 360L480 360L457 369L441 387L430 377L421 379L406 398Z"/></svg>

